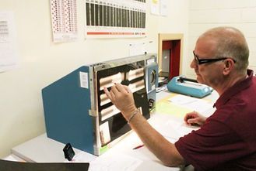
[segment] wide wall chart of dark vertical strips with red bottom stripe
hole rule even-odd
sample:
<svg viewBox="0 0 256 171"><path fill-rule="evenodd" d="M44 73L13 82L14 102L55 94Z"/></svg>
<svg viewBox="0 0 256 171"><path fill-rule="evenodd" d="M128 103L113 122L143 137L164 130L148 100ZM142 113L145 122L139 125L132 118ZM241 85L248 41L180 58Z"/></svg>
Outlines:
<svg viewBox="0 0 256 171"><path fill-rule="evenodd" d="M146 36L146 0L86 0L86 37Z"/></svg>

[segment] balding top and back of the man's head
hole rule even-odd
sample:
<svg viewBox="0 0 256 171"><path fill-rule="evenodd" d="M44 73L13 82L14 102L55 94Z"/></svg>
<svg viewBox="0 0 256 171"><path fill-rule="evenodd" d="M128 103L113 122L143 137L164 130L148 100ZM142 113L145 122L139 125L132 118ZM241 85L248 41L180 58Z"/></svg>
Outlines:
<svg viewBox="0 0 256 171"><path fill-rule="evenodd" d="M198 38L198 41L213 42L212 52L218 57L231 57L236 61L235 68L245 72L248 67L249 49L246 39L240 30L233 27L216 27L209 29Z"/></svg>

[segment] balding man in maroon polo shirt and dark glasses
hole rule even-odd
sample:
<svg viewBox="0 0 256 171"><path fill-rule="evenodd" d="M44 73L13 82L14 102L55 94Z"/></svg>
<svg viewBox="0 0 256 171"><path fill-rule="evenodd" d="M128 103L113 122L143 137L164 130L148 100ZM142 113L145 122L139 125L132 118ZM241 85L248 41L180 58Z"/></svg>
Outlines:
<svg viewBox="0 0 256 171"><path fill-rule="evenodd" d="M256 170L256 78L247 70L244 35L232 27L210 29L196 42L191 68L199 83L214 88L216 111L203 118L188 113L184 121L201 125L172 144L138 115L132 92L115 84L107 97L121 111L147 148L164 165L191 164L197 170ZM171 131L171 130L170 130Z"/></svg>

